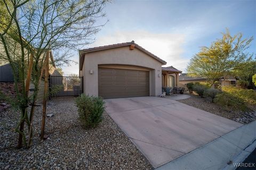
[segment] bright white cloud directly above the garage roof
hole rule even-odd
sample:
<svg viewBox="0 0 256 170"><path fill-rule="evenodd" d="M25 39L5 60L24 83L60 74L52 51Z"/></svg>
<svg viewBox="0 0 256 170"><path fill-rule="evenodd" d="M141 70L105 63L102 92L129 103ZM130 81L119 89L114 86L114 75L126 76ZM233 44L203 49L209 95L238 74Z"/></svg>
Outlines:
<svg viewBox="0 0 256 170"><path fill-rule="evenodd" d="M186 36L180 33L153 33L148 31L117 31L113 34L101 36L90 47L103 46L135 41L136 44L167 62L166 66L174 66L185 70L188 62L182 54Z"/></svg>

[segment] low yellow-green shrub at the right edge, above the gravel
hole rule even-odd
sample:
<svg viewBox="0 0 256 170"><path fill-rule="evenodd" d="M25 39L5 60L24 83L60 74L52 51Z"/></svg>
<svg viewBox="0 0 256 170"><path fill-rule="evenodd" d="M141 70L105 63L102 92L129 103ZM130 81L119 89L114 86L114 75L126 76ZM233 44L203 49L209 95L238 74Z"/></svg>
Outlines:
<svg viewBox="0 0 256 170"><path fill-rule="evenodd" d="M256 92L252 89L242 89L234 86L224 86L222 91L243 99L247 104L256 105Z"/></svg>

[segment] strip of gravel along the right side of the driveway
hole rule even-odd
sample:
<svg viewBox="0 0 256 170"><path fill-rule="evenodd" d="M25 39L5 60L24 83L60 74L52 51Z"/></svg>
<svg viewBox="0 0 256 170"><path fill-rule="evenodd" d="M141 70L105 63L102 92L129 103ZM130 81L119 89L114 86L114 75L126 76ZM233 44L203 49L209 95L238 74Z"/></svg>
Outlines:
<svg viewBox="0 0 256 170"><path fill-rule="evenodd" d="M208 98L201 98L197 95L189 93L186 93L186 95L190 95L191 97L177 101L243 124L256 120L255 106L251 106L252 110L249 112L234 111L233 109L227 110L217 104L212 103Z"/></svg>

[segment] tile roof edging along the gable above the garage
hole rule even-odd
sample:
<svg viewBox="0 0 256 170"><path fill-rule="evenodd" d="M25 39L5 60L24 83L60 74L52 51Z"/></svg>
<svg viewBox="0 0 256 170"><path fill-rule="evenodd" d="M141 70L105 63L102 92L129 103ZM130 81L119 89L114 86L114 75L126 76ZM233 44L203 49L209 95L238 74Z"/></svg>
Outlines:
<svg viewBox="0 0 256 170"><path fill-rule="evenodd" d="M82 69L82 65L83 65L83 61L84 61L84 55L86 53L92 53L92 52L97 52L97 51L100 51L100 50L111 49L111 48L118 48L118 47L125 47L125 46L130 46L130 45L135 45L135 48L138 48L142 52L144 52L144 53L150 55L151 57L155 58L157 61L159 61L163 65L166 64L166 62L164 60L162 60L161 58L157 57L156 55L150 53L145 48L142 48L138 44L134 43L134 41L131 41L131 42L126 42L126 43L111 44L111 45L106 45L106 46L99 46L99 47L93 47L93 48L87 48L87 49L79 50L79 55L80 55L80 58L81 58L80 59L81 61L79 61L79 69L80 70Z"/></svg>

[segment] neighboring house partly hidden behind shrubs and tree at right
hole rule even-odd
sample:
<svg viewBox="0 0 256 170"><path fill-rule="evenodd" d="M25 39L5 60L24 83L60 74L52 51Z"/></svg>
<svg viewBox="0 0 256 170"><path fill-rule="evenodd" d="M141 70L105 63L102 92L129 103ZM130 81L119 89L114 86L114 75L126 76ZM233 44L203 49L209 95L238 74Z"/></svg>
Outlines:
<svg viewBox="0 0 256 170"><path fill-rule="evenodd" d="M221 86L229 86L229 85L236 85L236 81L237 79L235 77L231 77L231 76L226 76L226 77L222 77L220 79L220 84ZM185 87L187 88L187 83L196 83L196 82L206 82L205 78L201 78L201 77L189 77L187 73L182 73L180 75L180 86L181 87Z"/></svg>

